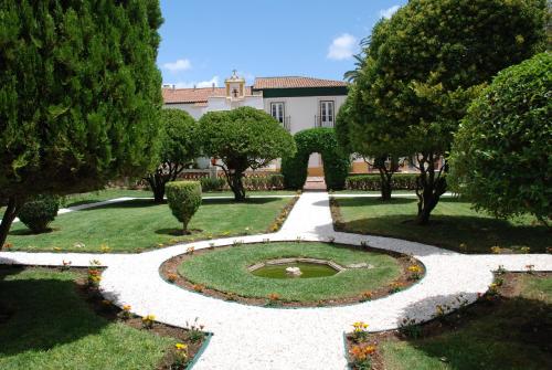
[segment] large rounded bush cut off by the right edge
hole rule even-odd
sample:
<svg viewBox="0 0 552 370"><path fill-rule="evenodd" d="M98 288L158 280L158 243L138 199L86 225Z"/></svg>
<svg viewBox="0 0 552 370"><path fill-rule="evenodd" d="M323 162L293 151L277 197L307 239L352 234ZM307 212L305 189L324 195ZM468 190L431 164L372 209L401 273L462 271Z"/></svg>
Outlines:
<svg viewBox="0 0 552 370"><path fill-rule="evenodd" d="M497 216L552 219L552 55L509 67L475 99L456 135L453 184Z"/></svg>

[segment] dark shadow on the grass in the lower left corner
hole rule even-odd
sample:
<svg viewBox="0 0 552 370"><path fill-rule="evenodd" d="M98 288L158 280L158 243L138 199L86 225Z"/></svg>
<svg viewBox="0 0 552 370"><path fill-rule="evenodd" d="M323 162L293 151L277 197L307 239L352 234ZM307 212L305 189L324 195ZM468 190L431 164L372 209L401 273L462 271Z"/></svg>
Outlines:
<svg viewBox="0 0 552 370"><path fill-rule="evenodd" d="M78 296L73 279L6 281L20 267L0 267L0 302L12 313L0 324L0 357L46 351L99 332L109 323Z"/></svg>

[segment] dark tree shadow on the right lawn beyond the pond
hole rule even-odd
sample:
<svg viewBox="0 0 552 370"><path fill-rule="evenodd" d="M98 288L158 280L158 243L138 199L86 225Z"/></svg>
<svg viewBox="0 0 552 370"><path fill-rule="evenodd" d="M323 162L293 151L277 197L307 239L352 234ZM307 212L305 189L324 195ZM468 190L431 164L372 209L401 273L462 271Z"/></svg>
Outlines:
<svg viewBox="0 0 552 370"><path fill-rule="evenodd" d="M513 225L505 220L433 215L428 225L418 225L412 214L381 215L346 222L343 231L390 236L436 245L465 253L490 253L490 247L519 249L544 253L551 234L545 226ZM467 250L459 249L466 244Z"/></svg>

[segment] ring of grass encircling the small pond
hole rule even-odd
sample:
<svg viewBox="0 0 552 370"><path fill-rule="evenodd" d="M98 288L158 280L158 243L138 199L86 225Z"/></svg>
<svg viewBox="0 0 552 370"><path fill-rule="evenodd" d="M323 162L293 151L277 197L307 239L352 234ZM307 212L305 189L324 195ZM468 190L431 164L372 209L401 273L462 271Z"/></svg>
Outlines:
<svg viewBox="0 0 552 370"><path fill-rule="evenodd" d="M369 263L374 268L350 268L333 276L314 278L268 278L251 274L247 267L279 257L312 257L333 261L342 266ZM267 297L276 293L283 300L319 300L360 295L389 285L400 276L397 261L389 255L370 253L327 243L245 244L214 250L184 261L179 273L193 283L244 297Z"/></svg>

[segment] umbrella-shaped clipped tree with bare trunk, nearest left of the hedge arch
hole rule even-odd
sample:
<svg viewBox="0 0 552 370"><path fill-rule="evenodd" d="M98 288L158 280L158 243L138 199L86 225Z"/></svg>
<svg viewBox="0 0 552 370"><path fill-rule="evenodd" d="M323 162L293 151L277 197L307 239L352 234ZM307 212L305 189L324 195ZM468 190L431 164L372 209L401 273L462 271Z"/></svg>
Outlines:
<svg viewBox="0 0 552 370"><path fill-rule="evenodd" d="M296 150L291 135L276 119L252 107L209 112L199 126L204 154L222 161L217 166L240 201L245 199L246 169L263 168Z"/></svg>

